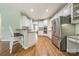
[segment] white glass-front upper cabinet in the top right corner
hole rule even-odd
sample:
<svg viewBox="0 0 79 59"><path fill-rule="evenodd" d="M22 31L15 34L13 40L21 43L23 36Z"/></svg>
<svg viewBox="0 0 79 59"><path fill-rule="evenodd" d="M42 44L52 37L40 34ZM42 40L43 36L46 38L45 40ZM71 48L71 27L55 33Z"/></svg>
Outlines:
<svg viewBox="0 0 79 59"><path fill-rule="evenodd" d="M79 3L73 3L71 11L71 23L79 23Z"/></svg>

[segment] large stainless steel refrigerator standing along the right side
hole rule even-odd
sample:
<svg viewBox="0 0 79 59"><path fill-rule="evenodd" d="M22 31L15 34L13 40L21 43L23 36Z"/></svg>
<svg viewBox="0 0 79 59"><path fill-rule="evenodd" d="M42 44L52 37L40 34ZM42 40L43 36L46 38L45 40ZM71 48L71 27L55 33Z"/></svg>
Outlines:
<svg viewBox="0 0 79 59"><path fill-rule="evenodd" d="M75 25L71 24L71 15L60 16L52 21L52 42L60 50L66 51L67 36L75 34Z"/></svg>

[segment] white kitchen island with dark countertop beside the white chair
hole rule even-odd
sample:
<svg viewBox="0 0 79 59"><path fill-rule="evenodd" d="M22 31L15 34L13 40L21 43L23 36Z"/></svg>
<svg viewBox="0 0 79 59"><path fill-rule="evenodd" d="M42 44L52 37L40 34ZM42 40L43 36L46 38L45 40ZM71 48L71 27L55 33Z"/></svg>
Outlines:
<svg viewBox="0 0 79 59"><path fill-rule="evenodd" d="M36 31L31 31L28 28L16 29L16 30L24 35L24 39L23 39L23 43L22 43L24 49L27 49L36 43L36 41L37 41L37 32Z"/></svg>

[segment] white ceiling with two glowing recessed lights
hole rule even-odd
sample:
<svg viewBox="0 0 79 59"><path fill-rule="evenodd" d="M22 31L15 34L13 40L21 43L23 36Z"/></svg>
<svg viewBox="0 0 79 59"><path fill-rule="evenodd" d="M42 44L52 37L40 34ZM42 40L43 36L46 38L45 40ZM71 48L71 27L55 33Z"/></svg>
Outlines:
<svg viewBox="0 0 79 59"><path fill-rule="evenodd" d="M53 16L66 3L2 3L0 6L14 8L27 14L28 17L39 20Z"/></svg>

